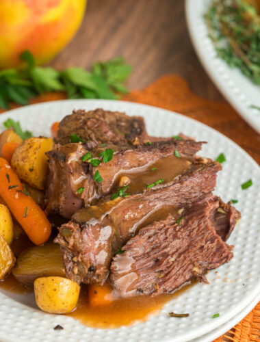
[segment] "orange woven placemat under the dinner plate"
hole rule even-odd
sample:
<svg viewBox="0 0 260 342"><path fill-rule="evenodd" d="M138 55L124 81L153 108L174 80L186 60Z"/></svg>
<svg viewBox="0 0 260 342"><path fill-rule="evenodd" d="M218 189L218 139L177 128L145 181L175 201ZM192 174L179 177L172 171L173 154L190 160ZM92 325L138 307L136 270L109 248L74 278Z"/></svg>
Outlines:
<svg viewBox="0 0 260 342"><path fill-rule="evenodd" d="M30 103L64 98L64 93L44 94L34 98ZM196 96L181 77L161 77L143 90L131 92L124 100L177 111L204 122L230 137L260 163L260 135L227 103L209 101ZM260 342L260 302L239 324L214 342L222 341Z"/></svg>

